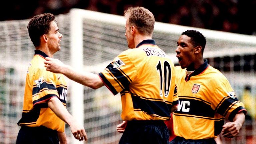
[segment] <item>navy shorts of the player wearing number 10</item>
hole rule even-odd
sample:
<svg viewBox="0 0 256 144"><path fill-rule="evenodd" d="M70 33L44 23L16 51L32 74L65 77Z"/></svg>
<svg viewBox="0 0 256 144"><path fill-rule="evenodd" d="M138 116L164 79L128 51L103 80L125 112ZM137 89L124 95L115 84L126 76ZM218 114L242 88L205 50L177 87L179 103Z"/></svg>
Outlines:
<svg viewBox="0 0 256 144"><path fill-rule="evenodd" d="M164 121L128 121L119 144L168 144L169 131Z"/></svg>

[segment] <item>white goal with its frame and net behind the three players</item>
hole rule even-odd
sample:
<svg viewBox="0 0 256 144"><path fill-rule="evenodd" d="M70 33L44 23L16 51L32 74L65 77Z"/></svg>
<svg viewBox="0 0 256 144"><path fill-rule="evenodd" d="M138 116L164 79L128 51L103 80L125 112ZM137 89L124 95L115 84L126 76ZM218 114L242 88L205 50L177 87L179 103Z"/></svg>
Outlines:
<svg viewBox="0 0 256 144"><path fill-rule="evenodd" d="M72 9L56 16L63 35L61 50L54 58L79 71L99 73L118 54L128 49L123 16ZM34 55L26 20L0 22L0 143L16 142L21 118L26 70ZM244 87L256 94L256 37L156 22L153 39L177 64L175 49L181 33L188 29L200 31L207 40L204 57L219 69L242 96ZM121 98L106 87L93 90L66 79L68 111L84 125L88 144L117 144L121 135L116 125L121 123ZM247 129L244 128L244 131ZM256 129L251 129L255 137ZM253 134L254 132L254 134ZM74 140L66 126L68 143ZM236 141L246 141L241 135ZM222 139L226 141L225 139Z"/></svg>

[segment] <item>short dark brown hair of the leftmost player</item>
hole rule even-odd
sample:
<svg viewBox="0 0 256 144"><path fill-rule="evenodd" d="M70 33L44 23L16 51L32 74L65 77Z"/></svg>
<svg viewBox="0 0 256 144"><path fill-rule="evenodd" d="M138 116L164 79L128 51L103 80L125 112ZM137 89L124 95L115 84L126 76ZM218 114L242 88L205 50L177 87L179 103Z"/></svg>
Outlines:
<svg viewBox="0 0 256 144"><path fill-rule="evenodd" d="M55 16L51 13L44 13L34 16L28 23L28 34L34 46L40 45L40 36L48 34Z"/></svg>

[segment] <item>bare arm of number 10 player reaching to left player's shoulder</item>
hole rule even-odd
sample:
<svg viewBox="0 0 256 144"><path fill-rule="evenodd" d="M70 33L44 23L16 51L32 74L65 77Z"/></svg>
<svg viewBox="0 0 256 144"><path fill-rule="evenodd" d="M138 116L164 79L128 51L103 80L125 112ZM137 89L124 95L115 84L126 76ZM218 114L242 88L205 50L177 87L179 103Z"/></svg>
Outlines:
<svg viewBox="0 0 256 144"><path fill-rule="evenodd" d="M90 72L77 72L71 66L63 64L58 59L46 57L45 67L47 71L62 73L69 79L93 89L102 87L104 84L97 74Z"/></svg>

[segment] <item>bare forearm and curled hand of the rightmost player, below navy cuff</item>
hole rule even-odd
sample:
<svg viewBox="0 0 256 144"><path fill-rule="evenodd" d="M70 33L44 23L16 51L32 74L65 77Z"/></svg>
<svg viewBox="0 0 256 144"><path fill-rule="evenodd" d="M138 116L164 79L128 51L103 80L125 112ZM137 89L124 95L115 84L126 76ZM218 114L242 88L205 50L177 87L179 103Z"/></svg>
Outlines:
<svg viewBox="0 0 256 144"><path fill-rule="evenodd" d="M239 134L240 129L245 121L245 115L243 112L239 112L235 115L233 122L227 122L222 127L223 137L233 138Z"/></svg>

